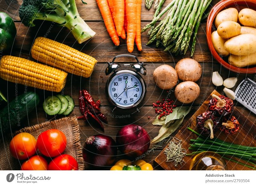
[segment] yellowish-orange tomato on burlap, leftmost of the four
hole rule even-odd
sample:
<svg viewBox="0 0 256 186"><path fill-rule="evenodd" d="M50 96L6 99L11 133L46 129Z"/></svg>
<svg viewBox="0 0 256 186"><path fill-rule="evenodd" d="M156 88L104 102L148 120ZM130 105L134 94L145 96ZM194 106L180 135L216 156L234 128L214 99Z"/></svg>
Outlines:
<svg viewBox="0 0 256 186"><path fill-rule="evenodd" d="M10 151L16 159L28 159L36 153L36 138L27 132L17 134L10 142Z"/></svg>

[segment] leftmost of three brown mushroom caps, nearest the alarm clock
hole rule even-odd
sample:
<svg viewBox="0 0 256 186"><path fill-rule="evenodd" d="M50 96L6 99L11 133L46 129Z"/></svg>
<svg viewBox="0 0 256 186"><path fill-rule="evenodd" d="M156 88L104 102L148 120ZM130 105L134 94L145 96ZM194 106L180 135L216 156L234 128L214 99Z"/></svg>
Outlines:
<svg viewBox="0 0 256 186"><path fill-rule="evenodd" d="M178 74L175 69L169 65L158 66L153 73L156 85L160 89L172 89L178 83Z"/></svg>

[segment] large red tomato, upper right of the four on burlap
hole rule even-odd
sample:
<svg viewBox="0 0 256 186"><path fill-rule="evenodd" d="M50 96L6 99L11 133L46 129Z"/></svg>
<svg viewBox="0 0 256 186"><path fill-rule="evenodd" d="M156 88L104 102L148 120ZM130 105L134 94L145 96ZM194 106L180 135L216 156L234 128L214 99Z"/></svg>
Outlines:
<svg viewBox="0 0 256 186"><path fill-rule="evenodd" d="M37 138L39 151L47 157L55 157L65 151L67 138L58 129L49 129L42 132Z"/></svg>

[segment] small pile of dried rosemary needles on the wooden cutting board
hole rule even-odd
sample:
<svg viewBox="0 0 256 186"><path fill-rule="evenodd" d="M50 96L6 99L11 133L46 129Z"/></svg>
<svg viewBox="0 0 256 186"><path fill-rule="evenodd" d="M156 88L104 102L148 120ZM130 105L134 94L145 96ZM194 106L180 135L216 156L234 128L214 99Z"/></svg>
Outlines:
<svg viewBox="0 0 256 186"><path fill-rule="evenodd" d="M173 164L175 167L184 162L183 157L186 156L186 149L182 148L182 140L177 139L176 137L172 138L172 141L169 142L168 147L165 148L164 154L166 156L166 162L174 161Z"/></svg>

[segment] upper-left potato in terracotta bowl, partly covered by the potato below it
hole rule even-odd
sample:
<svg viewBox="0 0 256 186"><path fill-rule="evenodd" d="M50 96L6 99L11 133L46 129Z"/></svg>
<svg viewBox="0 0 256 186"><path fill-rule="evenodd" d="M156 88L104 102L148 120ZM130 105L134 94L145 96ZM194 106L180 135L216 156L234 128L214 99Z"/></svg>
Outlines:
<svg viewBox="0 0 256 186"><path fill-rule="evenodd" d="M215 17L215 27L218 28L220 23L224 21L235 21L237 22L238 11L235 8L225 9L217 14Z"/></svg>

